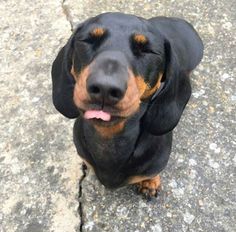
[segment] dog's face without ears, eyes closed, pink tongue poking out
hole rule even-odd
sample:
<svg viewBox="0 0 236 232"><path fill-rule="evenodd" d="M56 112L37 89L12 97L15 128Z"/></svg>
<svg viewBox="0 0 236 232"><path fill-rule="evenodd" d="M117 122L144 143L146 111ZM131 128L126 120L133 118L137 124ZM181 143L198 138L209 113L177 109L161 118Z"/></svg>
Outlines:
<svg viewBox="0 0 236 232"><path fill-rule="evenodd" d="M160 86L164 38L147 20L100 15L78 27L73 46L74 103L97 126L126 120Z"/></svg>

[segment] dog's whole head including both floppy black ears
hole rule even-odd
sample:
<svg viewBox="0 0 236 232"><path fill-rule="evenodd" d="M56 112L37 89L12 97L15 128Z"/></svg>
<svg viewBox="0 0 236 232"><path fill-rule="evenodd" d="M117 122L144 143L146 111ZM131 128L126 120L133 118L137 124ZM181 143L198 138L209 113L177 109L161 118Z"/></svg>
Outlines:
<svg viewBox="0 0 236 232"><path fill-rule="evenodd" d="M53 63L54 105L69 118L81 113L98 128L124 125L149 102L144 123L151 133L166 133L191 93L176 52L149 20L121 13L90 18Z"/></svg>

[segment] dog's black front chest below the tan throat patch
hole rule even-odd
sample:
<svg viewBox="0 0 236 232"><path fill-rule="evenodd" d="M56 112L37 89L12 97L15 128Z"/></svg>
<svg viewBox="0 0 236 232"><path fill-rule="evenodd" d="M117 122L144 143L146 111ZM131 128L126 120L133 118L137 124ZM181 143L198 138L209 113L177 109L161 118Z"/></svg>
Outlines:
<svg viewBox="0 0 236 232"><path fill-rule="evenodd" d="M139 125L105 139L89 124L83 125L85 159L93 166L98 179L107 187L117 187L127 178L124 169L132 156L139 134Z"/></svg>

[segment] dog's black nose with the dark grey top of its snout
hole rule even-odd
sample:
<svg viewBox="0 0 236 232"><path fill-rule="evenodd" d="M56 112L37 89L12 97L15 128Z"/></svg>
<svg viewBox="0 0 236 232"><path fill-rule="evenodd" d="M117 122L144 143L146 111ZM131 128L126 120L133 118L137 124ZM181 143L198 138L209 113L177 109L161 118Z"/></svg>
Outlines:
<svg viewBox="0 0 236 232"><path fill-rule="evenodd" d="M114 105L125 95L128 67L122 53L103 52L91 65L87 91L94 102Z"/></svg>

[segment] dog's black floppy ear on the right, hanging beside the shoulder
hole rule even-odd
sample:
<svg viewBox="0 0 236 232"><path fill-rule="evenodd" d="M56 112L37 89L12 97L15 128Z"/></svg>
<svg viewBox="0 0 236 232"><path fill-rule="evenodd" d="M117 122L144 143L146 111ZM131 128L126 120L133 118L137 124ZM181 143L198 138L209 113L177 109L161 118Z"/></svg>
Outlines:
<svg viewBox="0 0 236 232"><path fill-rule="evenodd" d="M165 40L164 48L164 87L151 100L143 118L144 127L154 135L174 129L191 95L189 76L180 70L178 58L169 41Z"/></svg>

